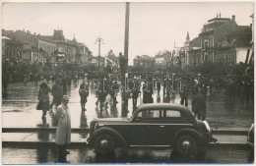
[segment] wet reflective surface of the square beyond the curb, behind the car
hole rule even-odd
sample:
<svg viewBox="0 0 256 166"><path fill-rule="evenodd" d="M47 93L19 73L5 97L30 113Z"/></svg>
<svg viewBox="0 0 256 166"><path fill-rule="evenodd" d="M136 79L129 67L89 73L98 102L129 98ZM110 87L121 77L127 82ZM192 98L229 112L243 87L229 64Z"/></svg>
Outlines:
<svg viewBox="0 0 256 166"><path fill-rule="evenodd" d="M39 84L39 83L38 83ZM49 83L50 87L52 83ZM161 88L162 89L162 88ZM2 127L36 127L41 124L41 111L35 110L37 104L38 86L33 83L11 83L8 85L8 98L2 102ZM72 83L69 90L71 95L69 107L72 112L72 128L87 127L96 117L120 117L121 116L121 94L118 93L116 107L108 104L103 108L102 115L96 107L96 94L91 90L86 104L87 111L83 113L80 106L79 83ZM162 102L162 91L160 91L160 102ZM157 101L157 92L154 93L154 102ZM50 98L52 96L50 94ZM170 102L179 104L179 93ZM112 103L109 100L109 103ZM139 96L138 105L142 103L142 95ZM191 96L188 100L188 107L191 108ZM132 100L129 99L130 110L128 117L132 114ZM225 100L223 92L207 101L207 117L211 127L214 128L243 128L249 129L253 123L253 103L246 104L238 97L234 103ZM15 121L13 121L15 119ZM52 125L52 116L47 114L47 123Z"/></svg>

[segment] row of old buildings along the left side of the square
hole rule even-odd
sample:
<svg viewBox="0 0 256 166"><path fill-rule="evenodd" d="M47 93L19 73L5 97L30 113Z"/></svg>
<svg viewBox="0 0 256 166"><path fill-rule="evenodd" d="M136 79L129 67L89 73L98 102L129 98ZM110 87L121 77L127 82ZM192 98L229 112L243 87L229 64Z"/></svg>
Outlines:
<svg viewBox="0 0 256 166"><path fill-rule="evenodd" d="M65 39L63 31L55 29L53 35L40 35L27 30L2 30L4 39L3 59L19 59L26 63L76 63L81 64L82 55L92 54L89 48L73 40ZM2 39L3 40L3 39ZM81 45L84 49L81 51ZM88 61L88 60L84 60Z"/></svg>

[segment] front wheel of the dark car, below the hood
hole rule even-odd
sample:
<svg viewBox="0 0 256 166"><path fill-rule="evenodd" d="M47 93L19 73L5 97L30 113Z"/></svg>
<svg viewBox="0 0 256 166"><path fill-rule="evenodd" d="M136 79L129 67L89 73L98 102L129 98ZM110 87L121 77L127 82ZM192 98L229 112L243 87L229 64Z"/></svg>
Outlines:
<svg viewBox="0 0 256 166"><path fill-rule="evenodd" d="M95 141L96 153L107 154L114 150L115 142L109 135L99 135Z"/></svg>

